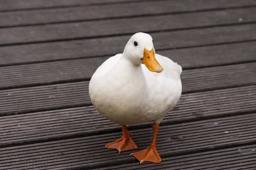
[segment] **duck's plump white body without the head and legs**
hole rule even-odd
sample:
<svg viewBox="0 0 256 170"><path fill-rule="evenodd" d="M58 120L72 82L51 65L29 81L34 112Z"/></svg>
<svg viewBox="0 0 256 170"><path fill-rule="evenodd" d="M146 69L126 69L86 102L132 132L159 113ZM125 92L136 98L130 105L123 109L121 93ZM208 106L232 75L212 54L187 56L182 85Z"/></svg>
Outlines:
<svg viewBox="0 0 256 170"><path fill-rule="evenodd" d="M93 74L89 94L93 105L105 118L119 125L155 120L160 123L181 95L181 67L155 54L161 73L144 64L133 65L123 54L107 59Z"/></svg>

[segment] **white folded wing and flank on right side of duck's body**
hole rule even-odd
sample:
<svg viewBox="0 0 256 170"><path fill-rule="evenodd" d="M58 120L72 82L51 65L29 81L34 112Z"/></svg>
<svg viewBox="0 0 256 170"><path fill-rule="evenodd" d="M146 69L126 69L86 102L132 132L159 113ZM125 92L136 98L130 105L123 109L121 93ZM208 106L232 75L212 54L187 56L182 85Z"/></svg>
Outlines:
<svg viewBox="0 0 256 170"><path fill-rule="evenodd" d="M158 115L159 120L156 122L160 122L165 114L175 107L180 98L182 68L171 59L159 54L155 54L155 58L163 67L161 73L151 72L145 65L142 65L142 68L148 85L149 114L147 116Z"/></svg>

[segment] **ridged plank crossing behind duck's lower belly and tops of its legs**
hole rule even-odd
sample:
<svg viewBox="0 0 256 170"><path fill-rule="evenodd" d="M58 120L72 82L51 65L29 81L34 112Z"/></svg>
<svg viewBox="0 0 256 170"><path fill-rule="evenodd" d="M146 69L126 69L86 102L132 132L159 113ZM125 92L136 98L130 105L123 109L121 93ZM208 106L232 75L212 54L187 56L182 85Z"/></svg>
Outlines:
<svg viewBox="0 0 256 170"><path fill-rule="evenodd" d="M256 86L183 94L161 125L256 112L253 104L255 95ZM152 122L148 122L128 127L141 129L151 125ZM120 125L100 115L93 106L2 116L0 146L113 133L120 128Z"/></svg>

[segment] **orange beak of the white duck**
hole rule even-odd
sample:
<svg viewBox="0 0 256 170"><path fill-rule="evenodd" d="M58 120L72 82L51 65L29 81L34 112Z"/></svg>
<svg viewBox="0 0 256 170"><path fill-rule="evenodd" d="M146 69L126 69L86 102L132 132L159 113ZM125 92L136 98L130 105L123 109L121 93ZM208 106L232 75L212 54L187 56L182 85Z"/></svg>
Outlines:
<svg viewBox="0 0 256 170"><path fill-rule="evenodd" d="M154 57L154 48L152 48L151 51L148 51L146 48L144 48L142 62L145 64L149 71L154 71L157 73L163 71L163 68Z"/></svg>

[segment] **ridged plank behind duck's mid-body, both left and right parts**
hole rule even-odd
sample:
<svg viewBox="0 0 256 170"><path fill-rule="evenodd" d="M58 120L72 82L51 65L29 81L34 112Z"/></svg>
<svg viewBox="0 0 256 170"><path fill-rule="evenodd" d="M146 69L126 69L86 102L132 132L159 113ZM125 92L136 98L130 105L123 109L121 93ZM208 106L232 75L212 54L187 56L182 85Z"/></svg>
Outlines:
<svg viewBox="0 0 256 170"><path fill-rule="evenodd" d="M256 63L183 71L182 93L255 85ZM15 80L13 80L15 82ZM0 91L0 114L91 105L89 81Z"/></svg>

